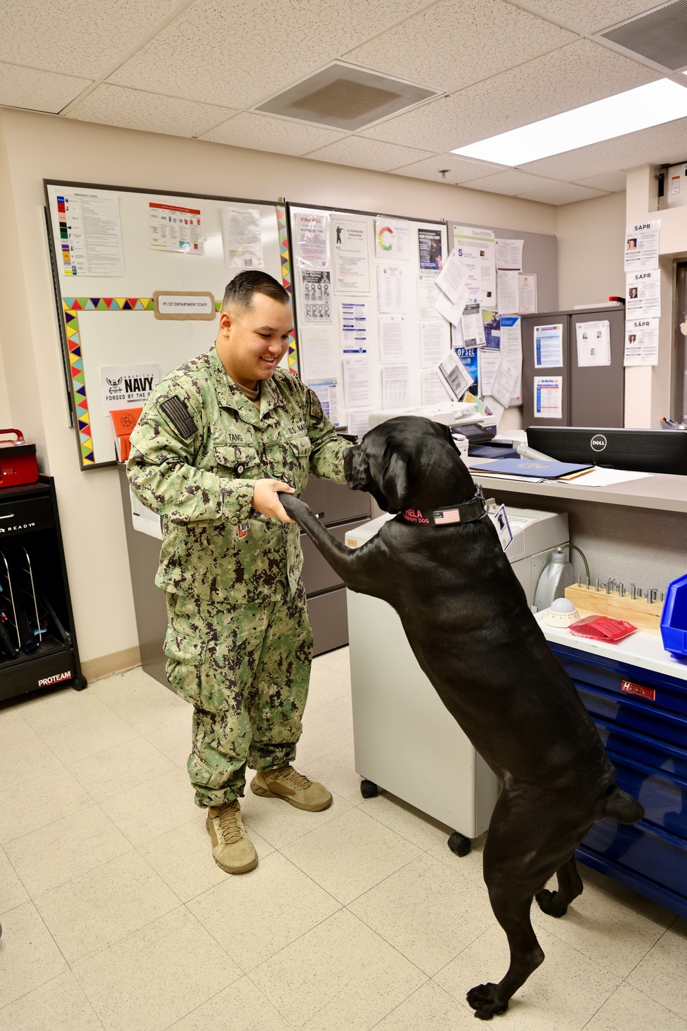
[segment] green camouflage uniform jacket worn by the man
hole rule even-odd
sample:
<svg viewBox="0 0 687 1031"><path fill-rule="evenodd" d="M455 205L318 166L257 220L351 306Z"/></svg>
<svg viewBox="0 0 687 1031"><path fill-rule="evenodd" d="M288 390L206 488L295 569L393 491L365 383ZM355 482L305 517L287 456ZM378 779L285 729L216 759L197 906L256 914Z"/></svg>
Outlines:
<svg viewBox="0 0 687 1031"><path fill-rule="evenodd" d="M174 369L143 408L127 466L136 496L163 518L158 587L239 605L295 591L299 527L250 507L255 480L280 479L297 494L311 472L343 484L348 446L284 369L263 381L260 411L214 346Z"/></svg>

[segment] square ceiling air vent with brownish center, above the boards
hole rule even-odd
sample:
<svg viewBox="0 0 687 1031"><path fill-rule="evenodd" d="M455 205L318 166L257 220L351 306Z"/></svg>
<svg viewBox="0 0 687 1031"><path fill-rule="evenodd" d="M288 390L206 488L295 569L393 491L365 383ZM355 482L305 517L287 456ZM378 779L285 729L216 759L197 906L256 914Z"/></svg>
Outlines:
<svg viewBox="0 0 687 1031"><path fill-rule="evenodd" d="M335 61L253 109L353 131L441 96L437 90Z"/></svg>

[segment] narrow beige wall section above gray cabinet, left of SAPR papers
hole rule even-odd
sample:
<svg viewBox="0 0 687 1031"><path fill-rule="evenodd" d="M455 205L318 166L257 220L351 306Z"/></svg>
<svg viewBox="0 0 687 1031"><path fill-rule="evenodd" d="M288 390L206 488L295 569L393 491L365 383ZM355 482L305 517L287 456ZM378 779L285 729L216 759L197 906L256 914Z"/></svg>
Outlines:
<svg viewBox="0 0 687 1031"><path fill-rule="evenodd" d="M624 192L562 204L556 211L558 306L624 297Z"/></svg>

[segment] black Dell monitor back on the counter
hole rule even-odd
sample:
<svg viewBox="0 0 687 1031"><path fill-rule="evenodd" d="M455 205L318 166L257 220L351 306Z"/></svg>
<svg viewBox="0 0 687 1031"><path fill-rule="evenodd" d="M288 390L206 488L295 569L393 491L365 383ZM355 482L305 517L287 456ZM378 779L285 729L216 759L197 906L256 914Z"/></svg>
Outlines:
<svg viewBox="0 0 687 1031"><path fill-rule="evenodd" d="M527 445L558 462L687 475L687 432L683 430L529 426Z"/></svg>

